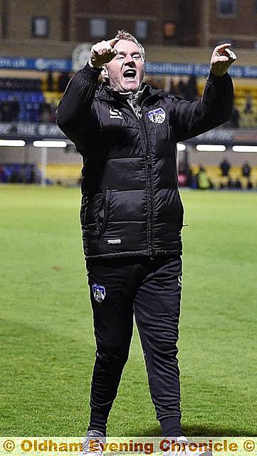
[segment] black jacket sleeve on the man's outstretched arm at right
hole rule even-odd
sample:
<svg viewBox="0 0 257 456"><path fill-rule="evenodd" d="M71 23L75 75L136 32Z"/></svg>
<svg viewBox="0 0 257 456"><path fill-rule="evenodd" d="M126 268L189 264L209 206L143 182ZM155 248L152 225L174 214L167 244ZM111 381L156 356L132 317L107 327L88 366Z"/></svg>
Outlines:
<svg viewBox="0 0 257 456"><path fill-rule="evenodd" d="M174 97L170 123L177 142L201 135L229 120L233 95L233 83L228 73L221 77L210 73L201 100L186 101Z"/></svg>

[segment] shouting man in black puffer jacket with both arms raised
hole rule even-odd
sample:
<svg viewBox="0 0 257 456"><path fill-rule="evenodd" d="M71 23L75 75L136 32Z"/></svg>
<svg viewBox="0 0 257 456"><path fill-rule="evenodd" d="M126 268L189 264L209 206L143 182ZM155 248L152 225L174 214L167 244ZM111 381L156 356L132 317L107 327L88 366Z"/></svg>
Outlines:
<svg viewBox="0 0 257 456"><path fill-rule="evenodd" d="M177 142L229 119L229 46L214 49L201 100L189 102L142 83L144 48L120 31L93 46L58 107L58 125L83 157L80 220L97 345L88 436L105 435L134 314L162 434L182 436Z"/></svg>

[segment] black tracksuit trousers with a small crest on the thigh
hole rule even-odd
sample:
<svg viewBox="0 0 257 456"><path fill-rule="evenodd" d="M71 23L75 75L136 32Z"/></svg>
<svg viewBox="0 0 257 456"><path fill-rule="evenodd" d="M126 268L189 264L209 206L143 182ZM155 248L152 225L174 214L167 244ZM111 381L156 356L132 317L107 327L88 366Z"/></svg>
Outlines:
<svg viewBox="0 0 257 456"><path fill-rule="evenodd" d="M105 434L132 338L133 315L162 435L182 435L177 340L182 286L180 257L87 260L97 346L88 430ZM95 299L95 285L105 297Z"/></svg>

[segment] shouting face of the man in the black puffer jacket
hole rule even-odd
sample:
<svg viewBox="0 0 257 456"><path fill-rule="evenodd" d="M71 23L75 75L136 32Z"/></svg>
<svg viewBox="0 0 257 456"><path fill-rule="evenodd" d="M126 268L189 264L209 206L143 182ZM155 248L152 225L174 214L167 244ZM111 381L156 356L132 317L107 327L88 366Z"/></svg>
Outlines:
<svg viewBox="0 0 257 456"><path fill-rule="evenodd" d="M140 48L133 41L122 39L114 47L117 55L105 66L110 88L118 92L136 92L145 76Z"/></svg>

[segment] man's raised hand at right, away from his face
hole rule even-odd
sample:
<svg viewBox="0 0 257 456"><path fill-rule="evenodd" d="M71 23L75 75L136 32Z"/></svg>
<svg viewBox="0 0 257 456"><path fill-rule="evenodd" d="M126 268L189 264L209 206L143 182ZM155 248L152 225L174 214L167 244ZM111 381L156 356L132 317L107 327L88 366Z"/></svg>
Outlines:
<svg viewBox="0 0 257 456"><path fill-rule="evenodd" d="M230 46L230 43L225 43L214 48L211 54L211 73L214 76L224 76L231 63L236 61L236 54L229 49Z"/></svg>

